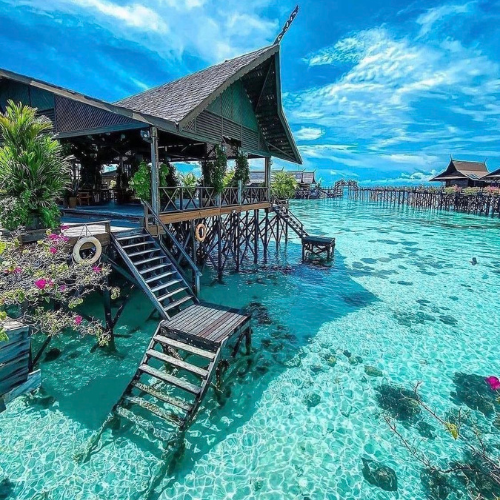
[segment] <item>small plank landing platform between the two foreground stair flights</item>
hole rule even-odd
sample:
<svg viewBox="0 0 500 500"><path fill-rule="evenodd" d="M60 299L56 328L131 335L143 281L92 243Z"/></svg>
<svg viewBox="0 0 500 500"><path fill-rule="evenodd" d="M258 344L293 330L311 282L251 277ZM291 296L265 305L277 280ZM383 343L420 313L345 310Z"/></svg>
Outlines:
<svg viewBox="0 0 500 500"><path fill-rule="evenodd" d="M250 317L213 304L194 304L162 326L179 338L195 344L220 345L235 334L241 334L250 327Z"/></svg>

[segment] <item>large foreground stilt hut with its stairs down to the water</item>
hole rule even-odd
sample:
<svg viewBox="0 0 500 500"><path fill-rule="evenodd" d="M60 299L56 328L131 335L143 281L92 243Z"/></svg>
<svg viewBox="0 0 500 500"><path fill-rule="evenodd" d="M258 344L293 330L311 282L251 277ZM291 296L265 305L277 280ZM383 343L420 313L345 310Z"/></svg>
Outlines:
<svg viewBox="0 0 500 500"><path fill-rule="evenodd" d="M185 428L227 346L235 354L242 339L250 342L248 315L200 302L202 266L212 266L221 277L229 266L238 271L245 263L265 261L271 240L279 245L289 230L306 252L332 254L332 238L316 241L287 206L271 198L271 158L302 161L282 109L279 53L275 43L115 103L0 70L0 110L9 101L36 108L72 153L77 204L64 213L80 222L63 235L73 258L100 258L140 288L160 318L113 409L126 419L137 423L131 411L139 408ZM213 168L241 155L264 160L262 185L162 183L163 163L199 161ZM110 164L116 172L103 174ZM128 185L140 164L150 169L151 185L151 199L142 206L131 203ZM116 318L109 295L103 304L112 334Z"/></svg>

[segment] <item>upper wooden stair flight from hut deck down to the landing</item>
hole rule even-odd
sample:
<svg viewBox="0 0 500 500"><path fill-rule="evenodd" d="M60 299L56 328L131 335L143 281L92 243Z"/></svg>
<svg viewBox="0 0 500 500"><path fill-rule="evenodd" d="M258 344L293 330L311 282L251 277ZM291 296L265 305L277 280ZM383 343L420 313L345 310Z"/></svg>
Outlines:
<svg viewBox="0 0 500 500"><path fill-rule="evenodd" d="M145 229L111 234L114 246L162 318L198 303L161 242Z"/></svg>

